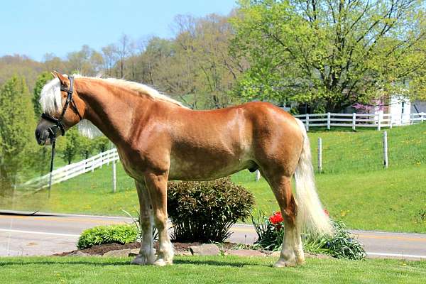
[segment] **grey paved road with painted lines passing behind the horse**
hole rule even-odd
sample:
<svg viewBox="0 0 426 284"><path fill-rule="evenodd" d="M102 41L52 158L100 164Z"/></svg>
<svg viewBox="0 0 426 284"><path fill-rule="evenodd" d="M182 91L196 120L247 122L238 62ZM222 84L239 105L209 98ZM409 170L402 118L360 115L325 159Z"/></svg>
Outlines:
<svg viewBox="0 0 426 284"><path fill-rule="evenodd" d="M0 256L51 255L72 251L82 230L97 225L130 223L130 218L69 214L20 216L0 213ZM252 244L251 225L233 226L229 241ZM426 260L426 234L353 231L371 258Z"/></svg>

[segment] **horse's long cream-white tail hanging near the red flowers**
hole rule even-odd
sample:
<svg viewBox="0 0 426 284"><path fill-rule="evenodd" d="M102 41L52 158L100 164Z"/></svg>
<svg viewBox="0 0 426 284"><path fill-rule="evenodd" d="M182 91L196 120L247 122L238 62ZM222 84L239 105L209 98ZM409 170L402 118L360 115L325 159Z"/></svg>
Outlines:
<svg viewBox="0 0 426 284"><path fill-rule="evenodd" d="M305 229L311 234L332 234L333 226L324 209L322 209L320 198L315 190L314 168L312 167L310 143L305 125L299 119L296 120L303 133L302 153L295 171L297 227L300 230Z"/></svg>

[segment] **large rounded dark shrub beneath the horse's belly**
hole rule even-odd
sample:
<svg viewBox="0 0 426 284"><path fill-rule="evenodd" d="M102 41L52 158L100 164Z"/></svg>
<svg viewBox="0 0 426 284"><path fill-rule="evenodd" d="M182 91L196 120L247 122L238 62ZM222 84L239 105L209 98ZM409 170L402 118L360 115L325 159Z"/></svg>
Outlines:
<svg viewBox="0 0 426 284"><path fill-rule="evenodd" d="M208 182L169 182L168 215L174 241L222 242L229 228L250 216L254 197L230 178Z"/></svg>

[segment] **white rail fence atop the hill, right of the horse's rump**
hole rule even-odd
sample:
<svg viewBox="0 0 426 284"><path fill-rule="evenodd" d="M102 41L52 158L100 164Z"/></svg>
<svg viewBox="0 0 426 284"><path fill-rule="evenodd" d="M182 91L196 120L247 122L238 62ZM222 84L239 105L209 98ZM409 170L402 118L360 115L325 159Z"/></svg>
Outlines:
<svg viewBox="0 0 426 284"><path fill-rule="evenodd" d="M403 121L402 119L398 121L398 124L395 123L395 120L392 119L391 114L301 114L296 115L298 119L303 121L305 124L306 130L309 131L310 127L317 126L327 126L327 129L331 129L332 126L343 126L351 127L356 129L356 127L373 127L377 130L381 130L382 127L389 127L395 125L407 125L415 124L417 122L423 122L426 120L426 113L422 112L419 114L410 114L410 119L408 121Z"/></svg>

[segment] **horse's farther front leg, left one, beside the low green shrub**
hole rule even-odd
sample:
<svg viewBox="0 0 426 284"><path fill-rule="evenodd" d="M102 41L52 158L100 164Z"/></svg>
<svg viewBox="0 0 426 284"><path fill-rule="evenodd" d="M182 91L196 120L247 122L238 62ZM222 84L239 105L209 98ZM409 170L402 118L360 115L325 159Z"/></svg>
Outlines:
<svg viewBox="0 0 426 284"><path fill-rule="evenodd" d="M136 190L139 197L140 219L142 244L138 256L132 264L153 264L155 261L155 249L153 247L153 212L151 208L151 197L145 181L136 180Z"/></svg>

